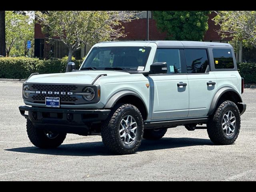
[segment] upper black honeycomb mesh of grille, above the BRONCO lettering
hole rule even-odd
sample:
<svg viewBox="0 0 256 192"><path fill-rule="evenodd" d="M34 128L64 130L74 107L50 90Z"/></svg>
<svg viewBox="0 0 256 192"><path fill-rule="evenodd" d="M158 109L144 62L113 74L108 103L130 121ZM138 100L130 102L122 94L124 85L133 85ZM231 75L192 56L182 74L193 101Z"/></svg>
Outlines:
<svg viewBox="0 0 256 192"><path fill-rule="evenodd" d="M37 91L63 91L72 92L77 90L76 85L58 85L58 84L32 84L31 86Z"/></svg>

